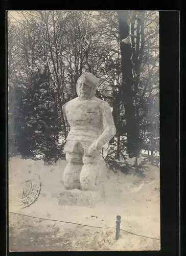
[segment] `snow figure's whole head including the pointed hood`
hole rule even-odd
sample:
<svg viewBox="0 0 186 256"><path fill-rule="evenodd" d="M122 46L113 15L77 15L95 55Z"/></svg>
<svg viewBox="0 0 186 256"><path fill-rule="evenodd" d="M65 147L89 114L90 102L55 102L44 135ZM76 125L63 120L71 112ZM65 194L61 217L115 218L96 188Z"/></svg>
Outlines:
<svg viewBox="0 0 186 256"><path fill-rule="evenodd" d="M91 99L95 96L96 89L98 88L98 78L89 73L84 72L77 81L76 91L78 97L81 99Z"/></svg>

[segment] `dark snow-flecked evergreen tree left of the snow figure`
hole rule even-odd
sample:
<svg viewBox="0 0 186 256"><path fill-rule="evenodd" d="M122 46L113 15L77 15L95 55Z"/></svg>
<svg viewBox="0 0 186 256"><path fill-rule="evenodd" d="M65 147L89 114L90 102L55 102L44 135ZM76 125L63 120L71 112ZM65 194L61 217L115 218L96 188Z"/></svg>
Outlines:
<svg viewBox="0 0 186 256"><path fill-rule="evenodd" d="M20 105L22 131L18 151L24 158L35 158L39 154L46 163L56 162L61 155L58 147L60 119L55 103L57 93L50 88L47 70L38 71L27 89Z"/></svg>

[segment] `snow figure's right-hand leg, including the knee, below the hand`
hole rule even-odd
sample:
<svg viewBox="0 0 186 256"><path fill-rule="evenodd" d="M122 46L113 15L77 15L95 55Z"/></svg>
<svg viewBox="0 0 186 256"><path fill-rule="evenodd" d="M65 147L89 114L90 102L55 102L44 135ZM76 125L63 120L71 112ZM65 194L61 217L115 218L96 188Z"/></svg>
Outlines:
<svg viewBox="0 0 186 256"><path fill-rule="evenodd" d="M80 173L80 184L82 190L95 190L97 178L100 172L100 156L83 156L83 166Z"/></svg>

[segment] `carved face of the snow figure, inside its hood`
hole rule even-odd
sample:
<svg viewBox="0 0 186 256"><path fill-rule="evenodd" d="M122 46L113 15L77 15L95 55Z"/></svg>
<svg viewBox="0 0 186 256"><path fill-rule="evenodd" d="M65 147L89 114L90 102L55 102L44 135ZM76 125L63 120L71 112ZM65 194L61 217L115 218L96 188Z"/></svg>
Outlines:
<svg viewBox="0 0 186 256"><path fill-rule="evenodd" d="M91 99L96 93L96 84L89 81L85 76L78 79L76 90L80 99Z"/></svg>

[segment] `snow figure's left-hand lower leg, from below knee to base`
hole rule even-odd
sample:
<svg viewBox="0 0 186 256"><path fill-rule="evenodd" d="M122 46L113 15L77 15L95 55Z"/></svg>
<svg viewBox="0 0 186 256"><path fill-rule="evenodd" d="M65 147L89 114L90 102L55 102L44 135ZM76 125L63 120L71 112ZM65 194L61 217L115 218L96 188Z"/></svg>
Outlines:
<svg viewBox="0 0 186 256"><path fill-rule="evenodd" d="M67 163L64 174L63 184L66 189L79 189L80 188L80 172L82 165L77 163Z"/></svg>

